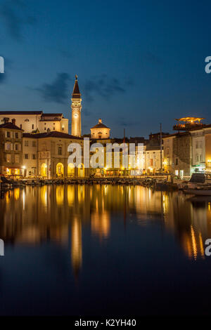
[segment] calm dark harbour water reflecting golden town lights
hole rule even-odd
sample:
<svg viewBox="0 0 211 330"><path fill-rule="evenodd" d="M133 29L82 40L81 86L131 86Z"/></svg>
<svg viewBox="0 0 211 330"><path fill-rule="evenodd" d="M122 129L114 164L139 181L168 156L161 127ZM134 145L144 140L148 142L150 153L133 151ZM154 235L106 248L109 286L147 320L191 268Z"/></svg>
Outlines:
<svg viewBox="0 0 211 330"><path fill-rule="evenodd" d="M1 315L210 314L211 206L143 187L17 188L0 200Z"/></svg>

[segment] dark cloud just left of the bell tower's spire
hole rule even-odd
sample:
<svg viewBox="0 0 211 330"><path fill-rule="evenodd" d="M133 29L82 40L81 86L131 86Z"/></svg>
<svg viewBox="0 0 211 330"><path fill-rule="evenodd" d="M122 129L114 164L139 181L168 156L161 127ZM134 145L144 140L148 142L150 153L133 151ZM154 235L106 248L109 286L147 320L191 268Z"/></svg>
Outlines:
<svg viewBox="0 0 211 330"><path fill-rule="evenodd" d="M40 88L34 88L46 102L66 103L68 98L69 74L63 72L56 75L52 84L43 84Z"/></svg>

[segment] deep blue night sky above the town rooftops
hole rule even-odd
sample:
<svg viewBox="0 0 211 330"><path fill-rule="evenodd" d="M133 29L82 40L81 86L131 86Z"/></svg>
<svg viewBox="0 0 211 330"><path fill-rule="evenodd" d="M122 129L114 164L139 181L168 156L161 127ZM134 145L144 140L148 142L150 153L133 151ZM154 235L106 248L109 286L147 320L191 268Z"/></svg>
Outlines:
<svg viewBox="0 0 211 330"><path fill-rule="evenodd" d="M0 110L71 118L75 74L82 133L98 118L113 137L211 122L210 1L1 0Z"/></svg>

